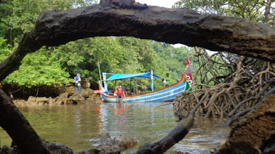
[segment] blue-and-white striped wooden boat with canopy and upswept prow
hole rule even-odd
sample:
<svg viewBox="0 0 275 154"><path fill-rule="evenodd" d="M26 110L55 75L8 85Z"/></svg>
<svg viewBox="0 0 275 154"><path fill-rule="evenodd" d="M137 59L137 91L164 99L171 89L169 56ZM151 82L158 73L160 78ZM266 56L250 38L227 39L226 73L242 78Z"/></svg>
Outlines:
<svg viewBox="0 0 275 154"><path fill-rule="evenodd" d="M118 80L118 79L132 79L135 77L142 77L142 78L151 78L152 79L152 92L149 92L147 94L135 94L131 96L126 96L123 98L123 103L132 103L132 102L169 102L174 101L175 98L184 92L185 90L188 90L190 88L190 85L188 82L186 82L186 75L183 73L181 75L181 80L178 81L176 84L170 85L166 88L163 88L161 90L153 91L153 78L162 79L160 77L157 77L156 75L153 75L153 73L139 73L139 74L131 74L131 75L121 75L121 74L109 74L112 75L109 79L106 79L106 75L109 73L103 73L103 79L104 79L104 88L102 88L100 84L100 97L102 101L109 102L109 103L115 103L116 97L113 96L113 94L109 93L107 90L107 81L111 80ZM141 75L141 76L140 76ZM116 77L113 77L116 76ZM118 77L121 76L121 77Z"/></svg>

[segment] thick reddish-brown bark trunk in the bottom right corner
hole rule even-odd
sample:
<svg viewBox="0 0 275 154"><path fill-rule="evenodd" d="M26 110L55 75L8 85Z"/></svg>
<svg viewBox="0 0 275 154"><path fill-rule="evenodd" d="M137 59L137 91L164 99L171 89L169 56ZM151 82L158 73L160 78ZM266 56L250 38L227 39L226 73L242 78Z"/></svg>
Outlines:
<svg viewBox="0 0 275 154"><path fill-rule="evenodd" d="M274 138L275 88L266 95L254 111L232 128L230 136L219 148L221 153L263 153L265 148L270 148L270 145L261 147L261 144L270 136ZM274 142L270 144L274 146Z"/></svg>

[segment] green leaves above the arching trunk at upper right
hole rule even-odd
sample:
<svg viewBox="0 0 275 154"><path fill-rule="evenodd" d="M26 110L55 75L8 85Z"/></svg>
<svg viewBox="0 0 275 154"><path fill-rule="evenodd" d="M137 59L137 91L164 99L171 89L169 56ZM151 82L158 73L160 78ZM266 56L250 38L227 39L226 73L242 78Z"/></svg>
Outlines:
<svg viewBox="0 0 275 154"><path fill-rule="evenodd" d="M235 16L252 21L265 21L262 13L266 1L263 0L180 0L174 8L186 7L199 13Z"/></svg>

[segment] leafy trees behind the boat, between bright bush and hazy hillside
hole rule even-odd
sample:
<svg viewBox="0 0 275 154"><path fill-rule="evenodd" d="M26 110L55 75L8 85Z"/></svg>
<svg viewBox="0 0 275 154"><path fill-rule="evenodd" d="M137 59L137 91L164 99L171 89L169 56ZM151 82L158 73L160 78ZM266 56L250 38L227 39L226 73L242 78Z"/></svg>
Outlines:
<svg viewBox="0 0 275 154"><path fill-rule="evenodd" d="M95 85L100 80L99 66L101 73L141 73L151 69L159 70L160 75L164 72L164 68L159 68L157 64L162 60L157 59L159 56L153 49L151 40L130 37L87 38L50 49L50 54L57 57L71 77L76 73L83 77L93 77L92 84ZM125 81L124 86L129 89L132 87L136 90L148 90L150 84L151 80L141 83L137 79L137 82L132 81L131 85L130 81ZM110 82L109 87L114 88L115 82ZM163 88L161 81L155 84L155 87Z"/></svg>

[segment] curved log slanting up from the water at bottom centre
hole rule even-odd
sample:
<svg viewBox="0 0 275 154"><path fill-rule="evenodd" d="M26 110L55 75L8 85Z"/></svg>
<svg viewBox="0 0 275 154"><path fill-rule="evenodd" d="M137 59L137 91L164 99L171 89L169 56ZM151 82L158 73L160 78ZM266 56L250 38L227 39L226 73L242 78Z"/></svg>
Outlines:
<svg viewBox="0 0 275 154"><path fill-rule="evenodd" d="M194 116L190 114L186 114L184 116L179 117L181 120L179 124L172 129L166 136L160 138L156 142L151 144L145 144L140 146L135 153L136 154L146 154L146 153L164 153L174 144L182 140L186 134L190 131L193 122Z"/></svg>

